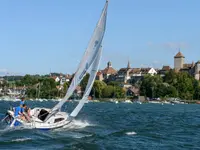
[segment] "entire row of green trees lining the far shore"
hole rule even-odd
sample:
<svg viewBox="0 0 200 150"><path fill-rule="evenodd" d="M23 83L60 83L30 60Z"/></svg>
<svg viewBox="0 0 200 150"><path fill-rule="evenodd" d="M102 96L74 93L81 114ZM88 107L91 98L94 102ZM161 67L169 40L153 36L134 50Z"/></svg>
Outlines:
<svg viewBox="0 0 200 150"><path fill-rule="evenodd" d="M88 81L87 74L81 81L82 93L75 93L71 98L81 98ZM55 82L49 75L25 75L17 77L14 81L16 87L26 87L26 96L29 98L62 98L71 81L66 82L63 88L60 88L60 83ZM137 85L136 85L137 84ZM8 83L3 82L1 87L8 86ZM134 82L133 86L140 88L140 95L149 98L181 98L183 100L199 100L200 99L200 82L195 80L186 72L175 72L173 70L166 73L164 77L160 75L146 75L139 82ZM92 98L125 98L126 91L122 88L121 83L111 81L95 81L92 87L90 96ZM132 95L132 98L134 95Z"/></svg>

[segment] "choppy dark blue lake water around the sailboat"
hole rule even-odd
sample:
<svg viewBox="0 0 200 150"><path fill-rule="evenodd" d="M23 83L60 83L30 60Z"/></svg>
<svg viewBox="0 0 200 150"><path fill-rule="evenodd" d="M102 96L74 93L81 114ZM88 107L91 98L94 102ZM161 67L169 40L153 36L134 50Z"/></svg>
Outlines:
<svg viewBox="0 0 200 150"><path fill-rule="evenodd" d="M57 102L27 103L52 107ZM17 104L0 101L0 118ZM200 149L200 105L88 103L69 128L10 130L1 123L0 149Z"/></svg>

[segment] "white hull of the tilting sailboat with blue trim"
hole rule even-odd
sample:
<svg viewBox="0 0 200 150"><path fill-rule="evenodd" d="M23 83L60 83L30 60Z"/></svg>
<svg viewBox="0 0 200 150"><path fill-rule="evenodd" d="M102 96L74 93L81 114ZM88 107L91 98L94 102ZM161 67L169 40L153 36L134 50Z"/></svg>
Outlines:
<svg viewBox="0 0 200 150"><path fill-rule="evenodd" d="M14 112L9 110L8 114L12 118L10 127L25 126L28 128L49 130L63 127L72 121L72 119L70 119L69 115L66 112L57 112L48 120L44 121L45 117L48 115L47 111L49 111L49 109L47 108L34 108L30 112L30 121L24 121L20 118L15 118Z"/></svg>

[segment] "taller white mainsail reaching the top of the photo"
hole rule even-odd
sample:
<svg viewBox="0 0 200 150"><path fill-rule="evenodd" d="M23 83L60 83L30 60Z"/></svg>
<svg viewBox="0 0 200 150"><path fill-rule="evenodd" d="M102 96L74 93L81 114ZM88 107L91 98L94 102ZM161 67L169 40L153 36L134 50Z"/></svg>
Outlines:
<svg viewBox="0 0 200 150"><path fill-rule="evenodd" d="M101 14L101 17L97 23L97 26L94 30L94 33L90 39L89 45L84 53L84 56L79 64L79 67L74 75L72 83L63 98L56 106L52 108L50 111L49 116L46 120L52 115L54 112L61 109L63 104L66 102L67 99L73 94L74 90L76 89L77 85L81 82L87 71L91 68L91 65L95 61L95 58L98 54L98 50L101 47L101 43L104 37L105 28L106 28L106 18L107 18L107 8L108 8L108 0L106 1L105 7Z"/></svg>

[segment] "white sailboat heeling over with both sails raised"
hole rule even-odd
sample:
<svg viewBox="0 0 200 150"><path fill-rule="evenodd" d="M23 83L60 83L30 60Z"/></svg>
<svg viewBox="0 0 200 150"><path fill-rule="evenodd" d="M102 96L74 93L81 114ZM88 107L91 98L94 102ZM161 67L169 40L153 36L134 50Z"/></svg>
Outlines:
<svg viewBox="0 0 200 150"><path fill-rule="evenodd" d="M102 53L102 41L106 29L106 19L107 19L107 9L108 9L108 0L106 0L105 6L103 8L100 19L96 25L94 33L90 39L89 45L83 55L83 58L78 66L78 69L74 75L74 78L70 84L70 87L65 95L65 97L53 108L34 108L31 110L31 118L29 121L24 121L18 117L14 116L14 111L7 111L7 118L10 119L10 127L15 126L29 126L31 128L37 129L54 129L60 128L69 124L81 111L84 104L87 102L88 96L92 89L93 83L96 78L96 73L99 68L99 63ZM84 95L79 101L75 109L70 113L62 112L61 108L65 102L73 94L74 90L84 78L86 73L90 74L88 79L88 84L86 86ZM6 118L6 119L7 119ZM5 120L6 120L5 119Z"/></svg>

